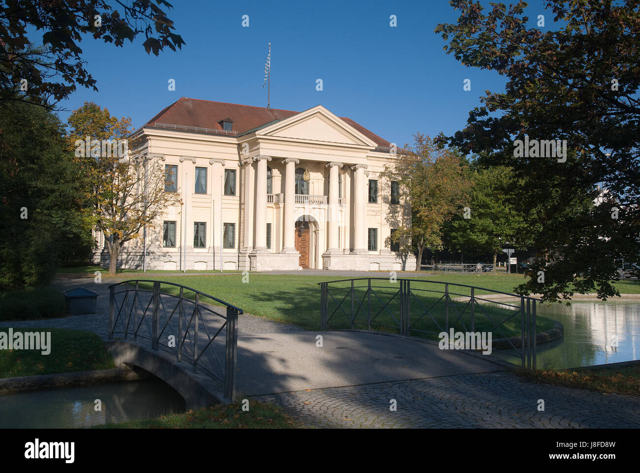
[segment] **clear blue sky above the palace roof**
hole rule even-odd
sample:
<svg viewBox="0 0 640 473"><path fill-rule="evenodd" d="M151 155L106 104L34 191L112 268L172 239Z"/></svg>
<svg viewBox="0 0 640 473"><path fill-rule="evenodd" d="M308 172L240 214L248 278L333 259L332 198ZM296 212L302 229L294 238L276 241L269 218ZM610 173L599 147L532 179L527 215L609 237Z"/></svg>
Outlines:
<svg viewBox="0 0 640 473"><path fill-rule="evenodd" d="M261 88L271 42L271 108L322 104L398 145L417 131L435 137L465 126L484 90L504 89L492 71L468 69L445 54L433 29L459 12L433 1L173 1L169 17L186 46L148 55L143 37L118 48L88 37L79 46L99 92L78 88L60 106L84 101L131 117L138 128L180 97L266 106ZM488 6L488 1L482 1ZM535 26L541 2L530 3ZM248 28L242 26L249 15ZM397 16L397 27L389 24ZM545 15L552 23L550 13ZM168 90L175 79L176 90ZM323 90L316 90L316 79ZM471 90L463 90L464 79ZM70 112L60 112L66 121Z"/></svg>

